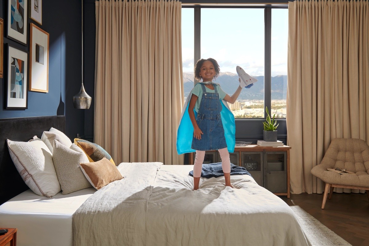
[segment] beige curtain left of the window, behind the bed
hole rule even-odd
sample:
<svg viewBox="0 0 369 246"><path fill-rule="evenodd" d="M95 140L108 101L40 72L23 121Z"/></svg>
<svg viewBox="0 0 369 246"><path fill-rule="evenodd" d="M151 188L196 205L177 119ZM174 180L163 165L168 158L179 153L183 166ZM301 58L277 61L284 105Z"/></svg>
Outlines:
<svg viewBox="0 0 369 246"><path fill-rule="evenodd" d="M181 3L96 3L94 142L115 163L183 164Z"/></svg>

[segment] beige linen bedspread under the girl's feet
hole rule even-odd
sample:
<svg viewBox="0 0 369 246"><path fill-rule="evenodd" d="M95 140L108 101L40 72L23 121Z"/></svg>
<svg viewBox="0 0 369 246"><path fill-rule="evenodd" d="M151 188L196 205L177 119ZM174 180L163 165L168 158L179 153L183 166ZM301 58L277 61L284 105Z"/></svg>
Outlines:
<svg viewBox="0 0 369 246"><path fill-rule="evenodd" d="M310 245L292 209L249 175L201 179L193 166L121 163L123 180L73 215L75 246Z"/></svg>

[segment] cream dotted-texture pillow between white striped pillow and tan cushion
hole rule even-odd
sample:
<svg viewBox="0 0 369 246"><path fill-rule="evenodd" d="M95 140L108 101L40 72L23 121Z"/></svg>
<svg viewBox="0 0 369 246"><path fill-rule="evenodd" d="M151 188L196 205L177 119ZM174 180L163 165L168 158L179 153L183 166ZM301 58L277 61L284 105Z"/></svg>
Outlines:
<svg viewBox="0 0 369 246"><path fill-rule="evenodd" d="M91 187L79 167L80 163L89 162L89 159L78 146L72 144L68 148L58 140L54 140L52 159L63 195Z"/></svg>

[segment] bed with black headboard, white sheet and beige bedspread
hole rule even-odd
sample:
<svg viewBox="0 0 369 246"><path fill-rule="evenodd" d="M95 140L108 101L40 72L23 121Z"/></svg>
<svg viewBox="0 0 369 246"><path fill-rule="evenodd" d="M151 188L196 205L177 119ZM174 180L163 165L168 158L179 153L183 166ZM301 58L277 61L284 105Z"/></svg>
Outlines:
<svg viewBox="0 0 369 246"><path fill-rule="evenodd" d="M0 119L0 227L18 228L18 246L310 245L292 209L249 175L231 175L235 189L224 177L201 178L192 191L191 165L120 163L124 178L99 190L41 197L5 142L50 127L65 131L64 116Z"/></svg>

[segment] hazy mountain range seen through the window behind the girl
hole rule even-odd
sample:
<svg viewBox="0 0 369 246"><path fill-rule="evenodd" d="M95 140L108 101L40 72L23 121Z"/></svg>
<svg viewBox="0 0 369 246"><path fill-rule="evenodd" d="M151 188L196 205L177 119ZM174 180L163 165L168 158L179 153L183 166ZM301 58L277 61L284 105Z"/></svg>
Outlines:
<svg viewBox="0 0 369 246"><path fill-rule="evenodd" d="M251 75L252 76L252 75ZM238 96L239 101L243 100L264 100L264 76L252 76L258 80L249 89L242 89ZM232 74L231 72L221 72L218 78L213 81L220 84L221 88L232 95L237 86L238 75ZM272 77L272 100L286 100L287 97L287 75L278 75ZM194 85L193 73L183 73L183 86L184 86L184 97L187 98Z"/></svg>

